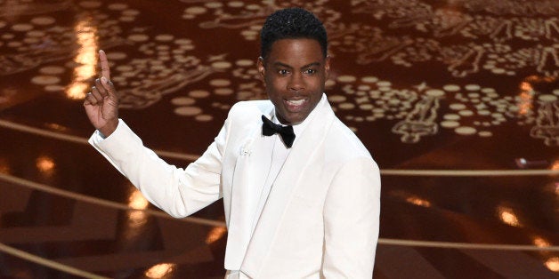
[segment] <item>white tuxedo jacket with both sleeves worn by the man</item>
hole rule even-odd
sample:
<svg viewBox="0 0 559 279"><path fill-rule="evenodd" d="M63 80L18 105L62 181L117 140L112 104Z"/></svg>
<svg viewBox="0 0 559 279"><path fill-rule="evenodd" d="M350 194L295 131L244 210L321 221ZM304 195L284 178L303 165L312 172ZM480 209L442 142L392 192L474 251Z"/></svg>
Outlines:
<svg viewBox="0 0 559 279"><path fill-rule="evenodd" d="M366 147L328 101L298 136L264 204L254 233L242 231L243 204L267 175L260 144L269 100L231 108L215 141L186 169L159 159L120 121L90 143L151 203L182 218L223 197L225 268L250 278L371 278L378 238L380 175ZM249 239L246 239L248 237ZM247 240L247 241L244 241ZM242 243L247 243L244 245Z"/></svg>

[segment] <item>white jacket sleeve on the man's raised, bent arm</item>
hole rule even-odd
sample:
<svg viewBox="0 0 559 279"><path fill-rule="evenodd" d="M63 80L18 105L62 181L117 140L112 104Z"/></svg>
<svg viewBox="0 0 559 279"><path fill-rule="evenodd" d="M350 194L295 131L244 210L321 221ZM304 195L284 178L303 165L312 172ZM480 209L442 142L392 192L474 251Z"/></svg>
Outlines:
<svg viewBox="0 0 559 279"><path fill-rule="evenodd" d="M163 161L132 130L119 120L117 130L106 139L93 133L89 142L142 194L168 214L186 217L222 197L220 175L227 141L226 121L215 141L185 169Z"/></svg>

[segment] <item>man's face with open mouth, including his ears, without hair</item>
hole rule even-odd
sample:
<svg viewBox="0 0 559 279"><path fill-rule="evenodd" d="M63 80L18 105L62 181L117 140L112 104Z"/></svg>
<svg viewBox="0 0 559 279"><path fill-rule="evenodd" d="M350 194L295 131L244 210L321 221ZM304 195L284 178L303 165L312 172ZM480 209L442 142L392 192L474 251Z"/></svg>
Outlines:
<svg viewBox="0 0 559 279"><path fill-rule="evenodd" d="M319 42L307 38L281 39L268 57L258 60L268 97L282 124L300 124L316 107L330 68Z"/></svg>

